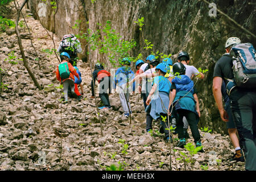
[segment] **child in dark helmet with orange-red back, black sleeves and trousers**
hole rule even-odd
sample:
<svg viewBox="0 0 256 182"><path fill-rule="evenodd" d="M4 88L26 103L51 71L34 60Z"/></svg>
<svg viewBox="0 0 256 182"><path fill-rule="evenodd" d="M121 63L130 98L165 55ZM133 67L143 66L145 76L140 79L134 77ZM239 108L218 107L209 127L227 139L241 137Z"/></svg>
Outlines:
<svg viewBox="0 0 256 182"><path fill-rule="evenodd" d="M108 95L108 90L109 90L109 93L111 92L110 73L108 71L106 71L104 69L103 65L100 63L97 63L94 66L93 80L91 83L91 87L92 87L92 97L91 98L95 97L93 83L95 85L96 80L98 80L98 83L100 84L99 97L104 105L104 106L98 107L98 109L110 109L110 102L109 102L109 95Z"/></svg>

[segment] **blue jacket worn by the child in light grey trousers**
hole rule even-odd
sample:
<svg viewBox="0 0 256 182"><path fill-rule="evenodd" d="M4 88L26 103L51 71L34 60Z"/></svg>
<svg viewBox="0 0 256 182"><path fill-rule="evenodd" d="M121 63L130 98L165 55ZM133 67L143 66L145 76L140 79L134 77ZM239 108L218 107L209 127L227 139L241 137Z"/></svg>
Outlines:
<svg viewBox="0 0 256 182"><path fill-rule="evenodd" d="M115 72L114 77L114 83L113 86L116 88L116 86L122 86L123 84L126 84L127 82L133 80L134 78L134 72L131 70L130 67L120 67L117 69L117 72ZM135 91L135 82L133 82L133 91Z"/></svg>

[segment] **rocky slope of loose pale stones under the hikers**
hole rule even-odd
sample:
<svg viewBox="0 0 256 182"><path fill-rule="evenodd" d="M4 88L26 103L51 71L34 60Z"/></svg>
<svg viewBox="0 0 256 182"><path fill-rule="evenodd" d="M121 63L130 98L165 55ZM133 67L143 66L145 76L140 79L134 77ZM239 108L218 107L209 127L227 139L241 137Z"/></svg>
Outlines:
<svg viewBox="0 0 256 182"><path fill-rule="evenodd" d="M22 61L5 75L4 83L8 86L0 94L0 170L105 170L106 166L119 166L119 163L126 170L168 170L169 145L156 132L158 123L154 122L154 135L145 133L145 113L137 95L131 97L131 125L122 117L117 93L110 96L113 109L97 114L90 98L88 64L78 63L85 91L82 100L69 98L68 105L61 105L62 90L57 88L59 82L53 73L58 61L54 55L42 51L52 48L52 40L38 20L25 16L34 46L42 58L40 68L26 36L22 39L24 50L44 89L34 86ZM23 29L22 34L27 34L27 30ZM59 41L55 35L55 44ZM21 57L16 35L11 31L9 35L0 34L1 68L10 67L5 58L11 51L15 51L17 59ZM100 103L98 98L97 101ZM100 121L104 126L103 136ZM203 170L201 166L208 170L244 170L244 163L228 162L234 153L228 136L203 131L200 134L205 153L193 156L194 170ZM188 142L193 143L192 137ZM181 148L176 148L175 155L172 151L172 170L185 169L180 160L175 160L179 151L188 154ZM188 165L186 169L191 168Z"/></svg>

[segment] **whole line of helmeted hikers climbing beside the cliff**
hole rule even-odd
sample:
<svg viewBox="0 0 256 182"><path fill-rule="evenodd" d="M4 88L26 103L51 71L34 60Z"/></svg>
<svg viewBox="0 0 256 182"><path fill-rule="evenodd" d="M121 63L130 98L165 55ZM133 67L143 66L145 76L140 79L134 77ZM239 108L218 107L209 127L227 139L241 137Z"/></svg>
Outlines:
<svg viewBox="0 0 256 182"><path fill-rule="evenodd" d="M65 35L58 51L61 63L56 69L56 77L63 84L64 104L68 103L68 96L81 100L84 91L81 73L76 67L76 52L81 52L80 42L74 35ZM214 67L213 96L236 150L230 161L246 160L245 169L255 171L256 52L253 45L241 43L239 38L234 37L226 41L225 51ZM117 89L123 115L130 117L130 94L138 90L146 115L146 132L152 130L152 122L155 120L155 123L160 124L159 131L164 134L166 142L172 142L172 134L177 134L177 147L184 148L190 127L196 147L200 147L199 152L204 152L198 129L201 115L199 98L193 78L203 80L205 76L193 65L189 65L189 60L189 54L185 51L178 53L175 64L170 58L159 60L155 55L148 55L146 60L136 61L137 71L134 74L131 59L123 57L115 75L104 69L102 63L97 63L92 74L91 98L95 97L97 80L103 104L98 109L110 109L109 94L112 89Z"/></svg>

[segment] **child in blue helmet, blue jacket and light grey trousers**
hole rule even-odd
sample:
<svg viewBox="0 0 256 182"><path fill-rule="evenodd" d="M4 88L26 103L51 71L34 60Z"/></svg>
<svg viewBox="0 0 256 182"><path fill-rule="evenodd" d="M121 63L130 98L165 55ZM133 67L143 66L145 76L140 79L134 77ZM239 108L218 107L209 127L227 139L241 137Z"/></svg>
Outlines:
<svg viewBox="0 0 256 182"><path fill-rule="evenodd" d="M134 78L134 72L131 70L131 61L129 57L125 57L121 60L122 67L117 69L115 72L113 86L114 89L118 87L119 98L121 101L121 105L123 108L123 114L125 117L129 117L131 114L131 106L130 106L130 93L131 93L131 86L127 86L127 82ZM132 85L133 92L135 91L135 83Z"/></svg>

